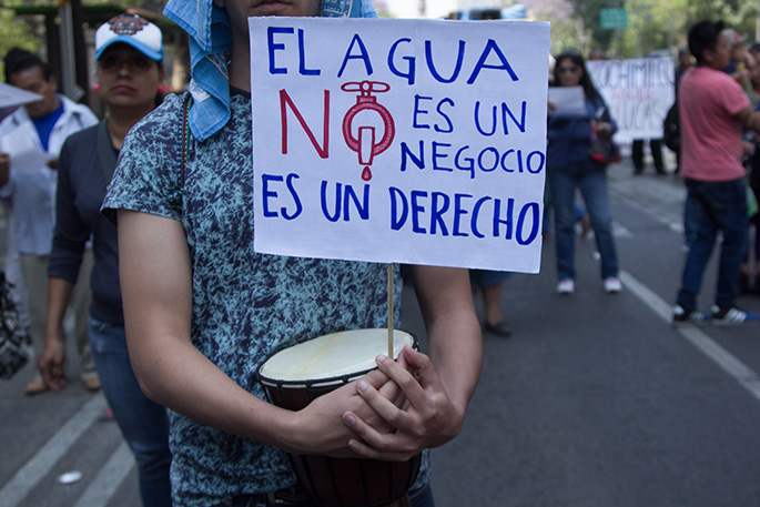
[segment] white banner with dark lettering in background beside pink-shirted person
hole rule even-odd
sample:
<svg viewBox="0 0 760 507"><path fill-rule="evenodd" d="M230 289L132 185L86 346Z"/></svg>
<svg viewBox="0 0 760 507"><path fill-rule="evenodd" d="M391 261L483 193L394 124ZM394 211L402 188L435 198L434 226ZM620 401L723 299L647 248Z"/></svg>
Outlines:
<svg viewBox="0 0 760 507"><path fill-rule="evenodd" d="M662 138L662 121L676 100L672 59L595 60L586 67L618 123L617 142Z"/></svg>

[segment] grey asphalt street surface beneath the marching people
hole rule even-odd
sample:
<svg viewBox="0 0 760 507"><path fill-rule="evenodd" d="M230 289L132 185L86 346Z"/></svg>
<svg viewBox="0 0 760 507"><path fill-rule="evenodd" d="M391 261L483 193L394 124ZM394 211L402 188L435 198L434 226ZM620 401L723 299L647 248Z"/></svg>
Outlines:
<svg viewBox="0 0 760 507"><path fill-rule="evenodd" d="M433 452L439 507L760 506L760 327L670 325L686 191L647 171L634 176L629 159L609 169L622 293L601 290L592 239L577 243L575 295L555 293L550 237L540 274L507 282L503 312L514 334L484 334L465 427ZM715 265L713 256L702 310ZM739 304L760 312L760 296ZM424 344L408 287L405 314ZM27 397L30 376L27 368L0 383L0 507L140 505L132 457L102 419L102 394L73 375L60 394ZM82 478L58 481L72 470Z"/></svg>

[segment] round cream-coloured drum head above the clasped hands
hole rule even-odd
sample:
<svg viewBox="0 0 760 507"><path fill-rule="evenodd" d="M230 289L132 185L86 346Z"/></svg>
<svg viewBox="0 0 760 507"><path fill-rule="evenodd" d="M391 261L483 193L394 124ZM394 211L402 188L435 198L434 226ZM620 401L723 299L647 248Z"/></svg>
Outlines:
<svg viewBox="0 0 760 507"><path fill-rule="evenodd" d="M393 339L394 357L404 345L414 345L414 337L404 331L394 329ZM375 369L375 357L381 354L388 354L387 328L342 331L278 352L259 374L264 384L346 382Z"/></svg>

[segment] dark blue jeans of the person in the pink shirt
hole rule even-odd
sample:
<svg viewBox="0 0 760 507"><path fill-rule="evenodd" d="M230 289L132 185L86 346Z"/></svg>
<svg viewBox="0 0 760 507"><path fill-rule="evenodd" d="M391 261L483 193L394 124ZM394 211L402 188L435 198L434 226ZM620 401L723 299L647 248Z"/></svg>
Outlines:
<svg viewBox="0 0 760 507"><path fill-rule="evenodd" d="M739 294L739 270L747 250L747 187L744 179L727 182L686 180L691 219L697 234L683 266L677 303L687 312L697 308L697 295L718 231L722 232L716 305L728 308Z"/></svg>

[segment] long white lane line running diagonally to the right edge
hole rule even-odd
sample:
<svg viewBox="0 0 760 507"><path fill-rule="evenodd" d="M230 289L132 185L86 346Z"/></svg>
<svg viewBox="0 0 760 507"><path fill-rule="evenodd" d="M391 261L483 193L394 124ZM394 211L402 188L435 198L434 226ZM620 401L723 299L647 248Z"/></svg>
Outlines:
<svg viewBox="0 0 760 507"><path fill-rule="evenodd" d="M649 306L649 308L651 308L660 318L667 323L671 322L672 305L666 303L660 296L636 280L630 273L625 271L620 272L620 280L626 290L634 293L635 296ZM760 402L760 377L754 371L737 359L699 327L685 326L679 327L676 331Z"/></svg>

